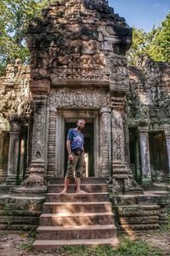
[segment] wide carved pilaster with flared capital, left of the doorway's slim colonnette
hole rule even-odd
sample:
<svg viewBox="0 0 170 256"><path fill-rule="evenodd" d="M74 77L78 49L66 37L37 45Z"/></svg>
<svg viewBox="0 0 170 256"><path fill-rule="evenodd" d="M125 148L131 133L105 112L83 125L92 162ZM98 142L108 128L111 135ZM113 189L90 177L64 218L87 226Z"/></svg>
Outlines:
<svg viewBox="0 0 170 256"><path fill-rule="evenodd" d="M47 119L47 95L50 82L44 80L31 80L30 88L34 105L34 122L31 148L31 168L29 176L25 180L26 186L44 185L45 159L46 159L46 119Z"/></svg>

